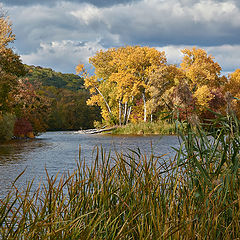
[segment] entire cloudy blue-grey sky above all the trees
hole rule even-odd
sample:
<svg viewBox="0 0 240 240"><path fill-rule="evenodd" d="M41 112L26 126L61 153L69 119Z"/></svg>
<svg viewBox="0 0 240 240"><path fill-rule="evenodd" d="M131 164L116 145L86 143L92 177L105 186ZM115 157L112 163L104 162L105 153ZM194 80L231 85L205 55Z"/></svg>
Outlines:
<svg viewBox="0 0 240 240"><path fill-rule="evenodd" d="M23 63L75 73L97 51L141 45L165 51L203 48L222 67L240 68L239 0L0 0Z"/></svg>

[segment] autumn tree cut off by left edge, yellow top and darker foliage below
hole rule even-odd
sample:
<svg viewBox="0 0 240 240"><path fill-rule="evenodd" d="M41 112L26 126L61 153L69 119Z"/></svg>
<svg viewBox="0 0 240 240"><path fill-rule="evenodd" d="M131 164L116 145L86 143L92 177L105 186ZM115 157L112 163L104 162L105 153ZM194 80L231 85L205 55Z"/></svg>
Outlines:
<svg viewBox="0 0 240 240"><path fill-rule="evenodd" d="M17 86L17 79L25 74L24 66L8 44L14 41L11 24L4 14L0 16L0 132L1 140L8 140L12 136L15 122L11 104L14 97L11 92ZM10 124L11 123L11 124Z"/></svg>

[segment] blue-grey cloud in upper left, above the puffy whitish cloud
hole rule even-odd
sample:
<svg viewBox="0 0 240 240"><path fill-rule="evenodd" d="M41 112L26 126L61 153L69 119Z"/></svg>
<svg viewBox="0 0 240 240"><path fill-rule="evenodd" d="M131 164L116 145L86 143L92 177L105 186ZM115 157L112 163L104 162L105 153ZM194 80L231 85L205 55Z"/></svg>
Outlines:
<svg viewBox="0 0 240 240"><path fill-rule="evenodd" d="M78 9L82 19L74 16ZM20 53L35 51L40 43L54 41L94 41L118 44L118 35L108 31L106 23L98 18L98 8L89 4L61 2L55 7L44 5L14 6L8 8L16 34L16 49Z"/></svg>

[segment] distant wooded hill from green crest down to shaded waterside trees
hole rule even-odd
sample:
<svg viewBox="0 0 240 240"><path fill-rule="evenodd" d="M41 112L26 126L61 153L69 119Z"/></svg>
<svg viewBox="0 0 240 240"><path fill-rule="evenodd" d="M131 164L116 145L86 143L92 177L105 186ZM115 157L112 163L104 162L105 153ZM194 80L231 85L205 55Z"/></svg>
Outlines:
<svg viewBox="0 0 240 240"><path fill-rule="evenodd" d="M41 123L47 130L87 129L94 127L94 121L101 121L100 108L86 103L90 95L83 78L51 68L28 65L25 68L25 77L34 86L41 84L38 94L49 104Z"/></svg>

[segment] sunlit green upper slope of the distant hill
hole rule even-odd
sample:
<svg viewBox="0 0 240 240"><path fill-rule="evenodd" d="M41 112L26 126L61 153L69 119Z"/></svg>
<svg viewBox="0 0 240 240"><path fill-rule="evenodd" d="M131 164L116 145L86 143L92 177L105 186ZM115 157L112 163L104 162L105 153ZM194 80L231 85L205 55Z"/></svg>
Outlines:
<svg viewBox="0 0 240 240"><path fill-rule="evenodd" d="M54 86L56 88L64 88L77 91L84 88L83 79L73 73L55 72L51 68L43 68L40 66L28 66L26 77L30 82L39 81L43 86Z"/></svg>

